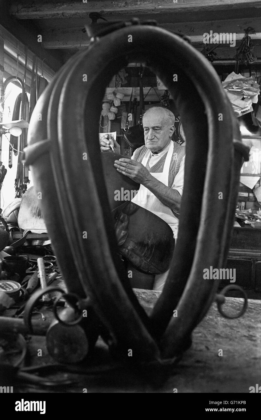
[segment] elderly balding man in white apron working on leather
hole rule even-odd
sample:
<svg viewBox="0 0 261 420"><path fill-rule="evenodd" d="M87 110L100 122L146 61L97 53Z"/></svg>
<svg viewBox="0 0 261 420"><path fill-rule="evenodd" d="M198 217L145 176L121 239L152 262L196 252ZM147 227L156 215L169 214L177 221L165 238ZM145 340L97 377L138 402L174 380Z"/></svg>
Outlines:
<svg viewBox="0 0 261 420"><path fill-rule="evenodd" d="M133 201L165 220L176 239L185 148L171 140L174 122L175 116L166 108L152 107L147 110L142 118L145 146L135 150L131 159L115 160L114 166L117 171L140 184ZM110 150L111 142L111 139L103 137L100 140L101 151ZM120 146L115 140L114 148L120 153ZM162 290L167 276L168 271L155 276L153 289Z"/></svg>

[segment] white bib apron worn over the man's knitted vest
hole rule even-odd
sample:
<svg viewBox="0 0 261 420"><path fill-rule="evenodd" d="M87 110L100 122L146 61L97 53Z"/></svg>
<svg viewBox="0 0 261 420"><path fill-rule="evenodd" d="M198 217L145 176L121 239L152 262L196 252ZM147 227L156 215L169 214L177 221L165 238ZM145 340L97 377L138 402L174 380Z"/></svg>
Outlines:
<svg viewBox="0 0 261 420"><path fill-rule="evenodd" d="M163 172L150 172L154 178L158 179L158 181L162 182L166 186L168 186L168 174L171 165L171 157L173 154L174 145L171 141L171 145L168 149L168 153L165 159ZM147 161L150 157L150 150L147 150L145 156L142 159L142 165L146 167ZM161 219L165 220L166 223L171 227L173 231L173 236L177 239L178 235L178 219L173 215L171 209L168 206L165 206L160 200L155 197L152 192L147 189L142 184L140 185L140 189L135 197L133 197L132 202L135 204L151 211Z"/></svg>

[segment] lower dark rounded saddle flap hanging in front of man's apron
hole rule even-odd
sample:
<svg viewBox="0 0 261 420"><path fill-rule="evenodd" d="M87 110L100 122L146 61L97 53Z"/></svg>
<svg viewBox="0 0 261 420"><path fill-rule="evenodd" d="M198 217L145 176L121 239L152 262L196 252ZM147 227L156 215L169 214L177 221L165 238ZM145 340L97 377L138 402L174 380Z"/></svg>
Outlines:
<svg viewBox="0 0 261 420"><path fill-rule="evenodd" d="M113 215L120 254L142 273L165 273L175 247L168 223L133 202Z"/></svg>

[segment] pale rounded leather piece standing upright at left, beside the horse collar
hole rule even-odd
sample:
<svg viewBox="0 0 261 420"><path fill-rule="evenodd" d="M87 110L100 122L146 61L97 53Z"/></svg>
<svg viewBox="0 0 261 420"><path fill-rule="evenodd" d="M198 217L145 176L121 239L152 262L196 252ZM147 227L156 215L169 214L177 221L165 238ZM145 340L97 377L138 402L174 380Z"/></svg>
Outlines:
<svg viewBox="0 0 261 420"><path fill-rule="evenodd" d="M18 213L18 226L21 229L30 229L35 233L46 233L47 227L38 205L39 199L34 186L31 186L22 197Z"/></svg>

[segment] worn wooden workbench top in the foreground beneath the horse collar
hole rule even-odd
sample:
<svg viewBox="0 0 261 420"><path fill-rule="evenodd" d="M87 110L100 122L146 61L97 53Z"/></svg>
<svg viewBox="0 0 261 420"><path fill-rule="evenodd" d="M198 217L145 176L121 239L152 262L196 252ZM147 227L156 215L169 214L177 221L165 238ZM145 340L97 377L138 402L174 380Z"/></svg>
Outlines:
<svg viewBox="0 0 261 420"><path fill-rule="evenodd" d="M135 293L149 313L158 299L160 292L135 289ZM226 298L226 311L238 307L243 299ZM249 300L248 309L243 317L230 320L222 318L217 305L212 304L207 316L193 332L193 344L182 359L170 367L170 376L160 387L148 383L129 368L117 368L111 364L106 352L106 345L101 339L96 344L96 351L87 358L90 362L105 364L108 372L97 375L75 375L52 373L49 378L76 378L80 382L59 390L41 389L41 392L83 393L249 393L249 387L261 384L261 301ZM50 310L47 317L52 316ZM36 315L37 317L37 315ZM34 318L35 319L35 318ZM41 318L38 318L41 319ZM47 319L48 321L48 319ZM126 326L127 328L127 326ZM42 356L37 352L42 349ZM220 352L222 350L222 352ZM218 354L221 354L219 356ZM28 341L27 365L54 363L45 346L44 336L32 336ZM104 365L103 365L104 366ZM112 368L112 370L111 370ZM31 386L21 384L14 392L40 392ZM86 392L86 391L85 391Z"/></svg>

